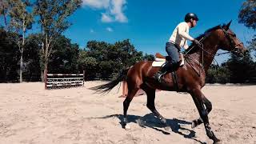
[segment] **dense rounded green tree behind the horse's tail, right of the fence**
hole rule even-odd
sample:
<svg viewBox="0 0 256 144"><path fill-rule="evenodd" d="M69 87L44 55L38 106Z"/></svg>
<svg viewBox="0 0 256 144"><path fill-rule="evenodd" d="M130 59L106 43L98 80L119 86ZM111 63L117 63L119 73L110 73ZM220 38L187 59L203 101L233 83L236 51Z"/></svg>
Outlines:
<svg viewBox="0 0 256 144"><path fill-rule="evenodd" d="M120 70L142 61L143 58L142 52L135 50L129 39L114 44L90 41L87 42L85 51L80 52L79 66L85 65L85 62L89 63L86 60L90 59L94 65L87 64L86 73L88 75L93 76L98 73L101 78L110 78Z"/></svg>

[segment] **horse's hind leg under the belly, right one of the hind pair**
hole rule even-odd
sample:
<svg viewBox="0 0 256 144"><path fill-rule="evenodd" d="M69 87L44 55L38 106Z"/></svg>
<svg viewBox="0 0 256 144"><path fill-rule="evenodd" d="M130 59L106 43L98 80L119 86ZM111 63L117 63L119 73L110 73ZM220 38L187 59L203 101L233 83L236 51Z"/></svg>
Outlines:
<svg viewBox="0 0 256 144"><path fill-rule="evenodd" d="M142 87L142 90L146 92L146 106L153 112L153 114L160 119L162 124L167 126L166 118L163 118L162 115L156 110L154 106L154 98L155 98L155 89L150 88L149 86L144 85Z"/></svg>

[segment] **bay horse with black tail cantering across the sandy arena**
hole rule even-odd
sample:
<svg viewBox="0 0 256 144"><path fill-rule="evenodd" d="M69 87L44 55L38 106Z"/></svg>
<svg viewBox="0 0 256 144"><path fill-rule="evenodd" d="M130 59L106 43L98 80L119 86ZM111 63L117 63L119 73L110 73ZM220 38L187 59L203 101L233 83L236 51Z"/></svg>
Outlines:
<svg viewBox="0 0 256 144"><path fill-rule="evenodd" d="M236 37L236 34L230 30L230 23L231 21L222 26L214 26L200 35L197 39L202 45L196 46L192 43L189 49L185 51L184 66L179 67L176 71L178 91L187 92L192 96L200 115L200 118L192 122L192 128L203 123L207 136L212 139L214 143L220 140L214 135L214 131L211 130L208 119L208 114L212 110L212 104L206 96L202 94L202 87L206 84L206 72L219 49L227 50L238 55L244 54L247 51L243 43ZM152 66L152 61L138 62L130 67L130 69L123 70L122 74L114 81L101 86L95 86L92 89L100 92L109 92L114 86L117 86L119 82L126 79L128 94L123 102L124 128L126 128L127 123L128 107L139 89L146 92L146 106L159 118L162 124L167 126L166 119L159 114L154 106L155 90L177 91L177 86L174 86L174 78L171 74L164 75L165 82L160 83L154 80L153 75L158 69L159 67Z"/></svg>

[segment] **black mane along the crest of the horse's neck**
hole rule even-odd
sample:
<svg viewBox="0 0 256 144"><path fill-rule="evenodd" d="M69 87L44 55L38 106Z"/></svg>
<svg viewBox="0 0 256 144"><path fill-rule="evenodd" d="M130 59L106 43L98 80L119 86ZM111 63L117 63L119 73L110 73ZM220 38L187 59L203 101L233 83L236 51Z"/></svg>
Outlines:
<svg viewBox="0 0 256 144"><path fill-rule="evenodd" d="M200 34L196 39L199 41L201 38L206 37L208 34L210 34L211 31L214 30L218 30L220 29L222 26L218 25L218 26L214 26L208 30L206 30L203 34ZM193 50L190 50L192 47L194 46ZM195 46L194 42L191 43L191 45L189 46L189 48L187 50L185 50L185 53L189 51L187 54L193 54L194 52L198 51L198 46Z"/></svg>

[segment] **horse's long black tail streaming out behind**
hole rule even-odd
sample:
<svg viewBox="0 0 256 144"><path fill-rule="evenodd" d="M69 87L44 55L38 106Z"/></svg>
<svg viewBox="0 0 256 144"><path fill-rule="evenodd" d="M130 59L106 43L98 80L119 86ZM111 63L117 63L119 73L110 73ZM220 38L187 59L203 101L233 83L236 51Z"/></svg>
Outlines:
<svg viewBox="0 0 256 144"><path fill-rule="evenodd" d="M114 86L117 86L119 82L126 81L128 70L130 69L128 68L126 70L122 70L122 72L119 73L118 78L115 78L113 81L108 82L106 84L91 87L90 90L96 90L96 93L110 92L110 90L112 90Z"/></svg>

